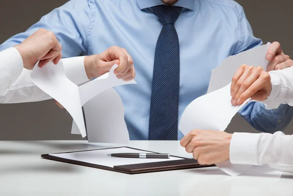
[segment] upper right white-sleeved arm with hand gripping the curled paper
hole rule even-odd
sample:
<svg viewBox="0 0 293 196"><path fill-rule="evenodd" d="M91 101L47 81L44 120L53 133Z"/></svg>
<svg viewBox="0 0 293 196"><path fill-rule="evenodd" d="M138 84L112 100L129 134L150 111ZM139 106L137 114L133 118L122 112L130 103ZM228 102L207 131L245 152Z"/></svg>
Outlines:
<svg viewBox="0 0 293 196"><path fill-rule="evenodd" d="M261 67L242 65L231 83L231 104L241 105L251 98L276 109L280 104L293 106L293 67L270 72Z"/></svg>

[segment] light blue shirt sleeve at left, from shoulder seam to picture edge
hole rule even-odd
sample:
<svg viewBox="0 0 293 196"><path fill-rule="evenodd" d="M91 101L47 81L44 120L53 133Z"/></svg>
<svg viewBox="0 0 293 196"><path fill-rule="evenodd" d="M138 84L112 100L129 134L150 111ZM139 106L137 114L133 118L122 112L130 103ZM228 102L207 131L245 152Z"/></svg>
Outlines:
<svg viewBox="0 0 293 196"><path fill-rule="evenodd" d="M20 44L32 33L43 28L52 31L62 45L63 58L87 55L87 41L95 17L92 0L70 0L43 16L25 32L9 38L0 45L0 51Z"/></svg>

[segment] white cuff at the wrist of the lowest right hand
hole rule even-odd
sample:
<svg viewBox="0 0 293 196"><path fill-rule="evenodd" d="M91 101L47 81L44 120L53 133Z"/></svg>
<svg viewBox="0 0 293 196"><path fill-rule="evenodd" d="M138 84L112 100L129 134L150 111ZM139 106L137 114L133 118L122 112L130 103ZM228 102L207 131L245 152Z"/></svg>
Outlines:
<svg viewBox="0 0 293 196"><path fill-rule="evenodd" d="M232 135L230 142L230 162L232 164L258 165L257 145L260 134L239 133Z"/></svg>

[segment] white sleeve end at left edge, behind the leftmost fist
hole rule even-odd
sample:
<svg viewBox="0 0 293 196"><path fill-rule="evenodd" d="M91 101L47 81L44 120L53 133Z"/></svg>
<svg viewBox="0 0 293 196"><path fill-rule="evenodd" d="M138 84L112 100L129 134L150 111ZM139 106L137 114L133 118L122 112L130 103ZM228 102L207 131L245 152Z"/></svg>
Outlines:
<svg viewBox="0 0 293 196"><path fill-rule="evenodd" d="M10 47L0 52L0 93L18 79L22 68L21 54L16 48Z"/></svg>

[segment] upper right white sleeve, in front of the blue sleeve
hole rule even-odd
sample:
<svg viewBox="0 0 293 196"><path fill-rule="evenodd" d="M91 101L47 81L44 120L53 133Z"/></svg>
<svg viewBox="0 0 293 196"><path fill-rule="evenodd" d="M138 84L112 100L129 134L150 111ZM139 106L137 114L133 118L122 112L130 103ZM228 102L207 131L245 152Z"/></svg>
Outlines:
<svg viewBox="0 0 293 196"><path fill-rule="evenodd" d="M266 109L276 109L280 104L293 106L293 66L282 70L270 71L272 91L263 101Z"/></svg>

